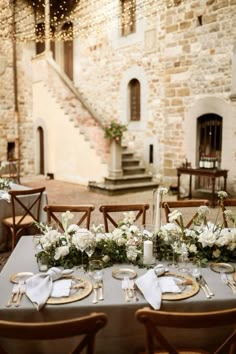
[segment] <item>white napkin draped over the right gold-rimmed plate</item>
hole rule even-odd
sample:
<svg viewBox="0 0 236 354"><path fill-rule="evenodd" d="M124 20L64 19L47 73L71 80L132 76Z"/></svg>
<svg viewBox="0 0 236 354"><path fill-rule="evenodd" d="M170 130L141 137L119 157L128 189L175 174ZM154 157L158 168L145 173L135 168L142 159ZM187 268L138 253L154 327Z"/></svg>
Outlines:
<svg viewBox="0 0 236 354"><path fill-rule="evenodd" d="M181 292L172 277L157 277L154 269L148 270L147 273L136 279L135 283L155 310L159 310L161 307L162 293Z"/></svg>

